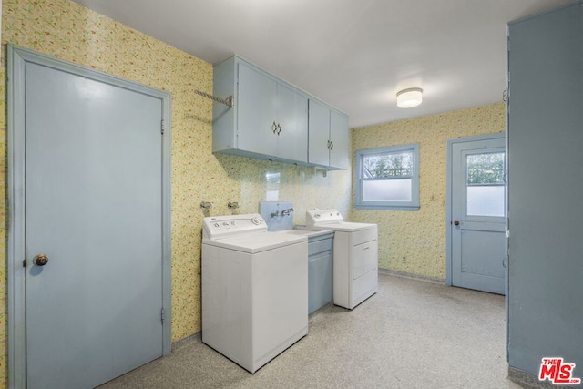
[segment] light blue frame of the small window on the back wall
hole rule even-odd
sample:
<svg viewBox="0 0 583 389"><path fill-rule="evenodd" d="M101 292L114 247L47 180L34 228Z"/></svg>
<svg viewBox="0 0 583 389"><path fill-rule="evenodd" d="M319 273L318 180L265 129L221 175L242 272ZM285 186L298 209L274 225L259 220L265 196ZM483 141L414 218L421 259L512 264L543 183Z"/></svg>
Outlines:
<svg viewBox="0 0 583 389"><path fill-rule="evenodd" d="M413 152L413 174L411 175L411 201L364 201L363 158L372 155ZM419 210L419 144L366 148L356 150L354 159L354 208L357 210Z"/></svg>

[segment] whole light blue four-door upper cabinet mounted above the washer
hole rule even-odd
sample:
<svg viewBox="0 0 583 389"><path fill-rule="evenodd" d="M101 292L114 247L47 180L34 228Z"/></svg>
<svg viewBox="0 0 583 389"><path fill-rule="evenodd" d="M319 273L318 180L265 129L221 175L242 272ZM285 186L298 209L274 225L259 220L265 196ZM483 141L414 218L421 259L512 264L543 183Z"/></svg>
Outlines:
<svg viewBox="0 0 583 389"><path fill-rule="evenodd" d="M213 105L212 151L255 159L272 159L304 166L348 169L348 117L321 102L322 123L312 125L308 101L312 97L297 87L273 77L238 56L231 56L214 67L213 94L234 97L234 107ZM312 105L310 106L312 109ZM331 112L333 111L333 118ZM310 128L309 128L310 115ZM332 123L334 123L332 125ZM343 157L332 148L333 133L342 134L333 148L344 150ZM310 138L308 138L310 137ZM322 159L309 159L309 145L318 138ZM312 152L312 146L310 146ZM332 151L333 150L333 151ZM314 154L315 156L315 154ZM332 164L333 161L333 164Z"/></svg>

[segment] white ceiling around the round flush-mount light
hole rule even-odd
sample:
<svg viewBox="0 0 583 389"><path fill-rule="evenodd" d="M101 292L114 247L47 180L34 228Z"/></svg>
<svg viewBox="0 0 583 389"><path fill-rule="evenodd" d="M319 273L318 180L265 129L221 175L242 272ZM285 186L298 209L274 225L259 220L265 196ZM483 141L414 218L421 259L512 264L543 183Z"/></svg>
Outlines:
<svg viewBox="0 0 583 389"><path fill-rule="evenodd" d="M571 0L75 0L210 63L237 54L350 127L502 101L506 24ZM421 106L396 92L422 87Z"/></svg>

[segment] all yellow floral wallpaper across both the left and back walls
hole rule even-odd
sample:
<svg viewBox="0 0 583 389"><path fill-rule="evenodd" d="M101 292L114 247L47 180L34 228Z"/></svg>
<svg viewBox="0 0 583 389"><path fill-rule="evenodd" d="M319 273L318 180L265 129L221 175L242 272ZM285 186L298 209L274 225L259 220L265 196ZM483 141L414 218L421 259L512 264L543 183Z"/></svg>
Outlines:
<svg viewBox="0 0 583 389"><path fill-rule="evenodd" d="M420 143L421 210L353 210L352 172L296 167L211 153L209 99L212 66L150 36L68 0L4 0L5 44L36 50L84 67L128 78L172 94L172 341L200 331L200 231L205 216L256 212L259 201L294 202L294 221L305 210L338 208L353 221L379 224L379 258L385 269L445 278L445 146L448 138L503 131L503 104L404 120L353 132L353 151ZM5 60L0 64L0 105L5 111ZM0 116L0 175L5 182L5 115ZM0 186L0 387L6 385L5 184ZM214 204L209 211L201 201Z"/></svg>

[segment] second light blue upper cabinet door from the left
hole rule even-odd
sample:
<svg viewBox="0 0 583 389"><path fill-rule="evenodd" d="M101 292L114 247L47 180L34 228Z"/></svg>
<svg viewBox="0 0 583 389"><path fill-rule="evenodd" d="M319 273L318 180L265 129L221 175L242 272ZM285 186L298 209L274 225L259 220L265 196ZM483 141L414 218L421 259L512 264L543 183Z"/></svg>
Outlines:
<svg viewBox="0 0 583 389"><path fill-rule="evenodd" d="M308 161L308 98L277 85L277 148L275 156Z"/></svg>

